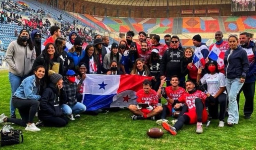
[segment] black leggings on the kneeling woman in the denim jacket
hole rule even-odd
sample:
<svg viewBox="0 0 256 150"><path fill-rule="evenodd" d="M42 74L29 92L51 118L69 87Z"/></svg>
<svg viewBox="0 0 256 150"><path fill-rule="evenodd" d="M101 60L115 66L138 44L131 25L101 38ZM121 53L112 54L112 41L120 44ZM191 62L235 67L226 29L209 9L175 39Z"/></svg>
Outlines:
<svg viewBox="0 0 256 150"><path fill-rule="evenodd" d="M27 123L32 123L35 113L39 107L39 101L37 100L23 100L12 99L13 106L19 110L19 115L22 119L8 118L7 122L12 122L21 126L27 126Z"/></svg>

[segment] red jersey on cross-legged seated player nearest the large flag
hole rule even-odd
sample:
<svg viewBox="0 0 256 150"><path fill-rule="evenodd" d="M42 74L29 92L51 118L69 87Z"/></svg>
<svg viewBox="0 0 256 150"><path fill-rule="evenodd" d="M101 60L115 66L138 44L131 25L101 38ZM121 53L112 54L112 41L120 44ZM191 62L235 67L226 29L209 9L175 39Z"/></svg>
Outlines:
<svg viewBox="0 0 256 150"><path fill-rule="evenodd" d="M141 89L136 93L137 103L148 103L148 105L154 106L158 103L158 94L154 90L150 90L148 94L144 93Z"/></svg>

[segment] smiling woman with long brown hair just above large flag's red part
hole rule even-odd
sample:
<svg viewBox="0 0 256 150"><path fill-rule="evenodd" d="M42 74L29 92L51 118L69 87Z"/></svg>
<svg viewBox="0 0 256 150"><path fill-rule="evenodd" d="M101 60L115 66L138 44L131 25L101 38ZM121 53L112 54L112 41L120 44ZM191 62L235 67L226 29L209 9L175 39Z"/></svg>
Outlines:
<svg viewBox="0 0 256 150"><path fill-rule="evenodd" d="M131 75L150 76L150 70L141 58L136 59Z"/></svg>

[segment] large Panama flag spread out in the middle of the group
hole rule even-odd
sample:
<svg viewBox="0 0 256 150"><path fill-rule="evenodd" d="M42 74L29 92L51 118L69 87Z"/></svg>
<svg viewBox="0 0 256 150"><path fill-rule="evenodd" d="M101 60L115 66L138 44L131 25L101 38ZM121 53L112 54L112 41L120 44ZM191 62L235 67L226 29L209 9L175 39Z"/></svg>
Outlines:
<svg viewBox="0 0 256 150"><path fill-rule="evenodd" d="M86 74L83 82L83 104L87 111L109 107L128 107L136 104L136 92L142 82L151 77L138 75Z"/></svg>

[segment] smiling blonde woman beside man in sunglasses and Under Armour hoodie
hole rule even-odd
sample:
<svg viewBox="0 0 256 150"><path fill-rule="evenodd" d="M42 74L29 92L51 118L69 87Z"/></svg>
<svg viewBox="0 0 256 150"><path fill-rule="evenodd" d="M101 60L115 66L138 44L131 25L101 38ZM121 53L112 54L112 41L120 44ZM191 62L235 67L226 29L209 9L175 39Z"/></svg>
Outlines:
<svg viewBox="0 0 256 150"><path fill-rule="evenodd" d="M184 77L188 75L189 80L194 79L195 81L197 76L196 71L198 70L197 70L197 67L192 63L194 52L195 50L192 47L185 48L184 56L181 58L181 75Z"/></svg>

